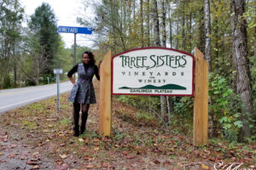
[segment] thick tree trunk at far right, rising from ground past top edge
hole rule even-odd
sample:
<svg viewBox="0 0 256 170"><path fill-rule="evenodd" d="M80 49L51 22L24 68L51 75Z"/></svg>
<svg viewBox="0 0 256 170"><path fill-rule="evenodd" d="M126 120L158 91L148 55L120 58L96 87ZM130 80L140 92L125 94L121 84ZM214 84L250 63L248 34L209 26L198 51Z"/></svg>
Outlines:
<svg viewBox="0 0 256 170"><path fill-rule="evenodd" d="M245 12L244 0L231 0L232 52L236 66L236 92L245 105L241 116L240 139L251 136L250 118L253 116L253 94L250 82L249 60L247 55L247 23L242 14ZM247 113L247 114L246 114Z"/></svg>

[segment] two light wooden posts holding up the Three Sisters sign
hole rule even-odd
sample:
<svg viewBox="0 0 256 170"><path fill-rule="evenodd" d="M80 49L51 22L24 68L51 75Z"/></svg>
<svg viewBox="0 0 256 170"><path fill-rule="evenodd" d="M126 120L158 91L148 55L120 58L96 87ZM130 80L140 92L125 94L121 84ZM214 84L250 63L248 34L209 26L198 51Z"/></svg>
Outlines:
<svg viewBox="0 0 256 170"><path fill-rule="evenodd" d="M104 56L100 69L100 124L103 136L111 134L111 51ZM208 139L208 64L204 55L195 48L194 87L194 144L207 144Z"/></svg>

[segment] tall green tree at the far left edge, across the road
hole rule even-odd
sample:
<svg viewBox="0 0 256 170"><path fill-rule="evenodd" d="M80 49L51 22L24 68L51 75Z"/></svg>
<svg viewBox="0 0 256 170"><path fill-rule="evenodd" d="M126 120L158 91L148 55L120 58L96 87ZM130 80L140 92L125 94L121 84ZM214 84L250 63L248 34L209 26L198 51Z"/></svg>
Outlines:
<svg viewBox="0 0 256 170"><path fill-rule="evenodd" d="M0 1L0 88L14 87L9 72L20 53L21 22L24 9L17 0Z"/></svg>

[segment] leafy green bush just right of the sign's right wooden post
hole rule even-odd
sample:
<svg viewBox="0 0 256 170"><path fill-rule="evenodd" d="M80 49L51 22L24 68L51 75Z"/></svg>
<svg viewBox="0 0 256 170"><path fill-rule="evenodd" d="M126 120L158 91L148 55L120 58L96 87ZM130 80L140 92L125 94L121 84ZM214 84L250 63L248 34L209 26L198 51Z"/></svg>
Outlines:
<svg viewBox="0 0 256 170"><path fill-rule="evenodd" d="M242 108L239 96L229 87L227 80L218 73L211 73L209 78L209 95L212 99L209 111L218 121L221 127L219 130L224 133L224 138L236 141L239 128L242 127L239 119Z"/></svg>

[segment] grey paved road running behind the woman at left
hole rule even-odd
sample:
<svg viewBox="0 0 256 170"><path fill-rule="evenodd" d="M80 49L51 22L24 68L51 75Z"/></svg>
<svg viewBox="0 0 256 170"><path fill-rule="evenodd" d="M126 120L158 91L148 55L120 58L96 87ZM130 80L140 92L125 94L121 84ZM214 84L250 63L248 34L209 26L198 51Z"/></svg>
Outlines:
<svg viewBox="0 0 256 170"><path fill-rule="evenodd" d="M61 82L60 93L63 94L72 87L71 82ZM56 84L0 90L0 114L55 95L57 95Z"/></svg>

